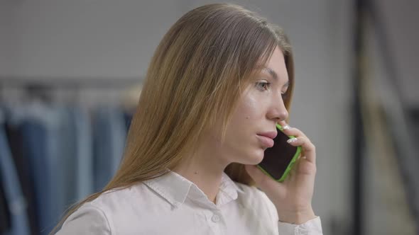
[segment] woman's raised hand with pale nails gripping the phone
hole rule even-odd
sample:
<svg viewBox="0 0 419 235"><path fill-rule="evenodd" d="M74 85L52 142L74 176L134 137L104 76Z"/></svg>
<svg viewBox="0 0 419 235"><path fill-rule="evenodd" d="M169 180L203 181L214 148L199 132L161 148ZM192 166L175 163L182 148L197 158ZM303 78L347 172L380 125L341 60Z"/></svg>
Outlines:
<svg viewBox="0 0 419 235"><path fill-rule="evenodd" d="M283 127L287 126L284 121L279 124ZM256 166L246 165L246 171L276 206L281 222L303 224L316 217L311 206L316 173L315 146L303 132L296 128L290 127L284 130L284 133L297 138L289 144L302 147L300 158L295 162L285 181L276 182Z"/></svg>

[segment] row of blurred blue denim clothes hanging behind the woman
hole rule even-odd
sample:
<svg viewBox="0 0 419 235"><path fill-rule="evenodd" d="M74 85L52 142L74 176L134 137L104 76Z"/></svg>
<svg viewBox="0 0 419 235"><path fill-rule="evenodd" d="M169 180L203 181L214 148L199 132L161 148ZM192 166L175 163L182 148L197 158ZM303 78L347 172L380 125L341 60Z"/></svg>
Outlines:
<svg viewBox="0 0 419 235"><path fill-rule="evenodd" d="M114 175L131 115L40 101L1 107L0 234L48 234Z"/></svg>

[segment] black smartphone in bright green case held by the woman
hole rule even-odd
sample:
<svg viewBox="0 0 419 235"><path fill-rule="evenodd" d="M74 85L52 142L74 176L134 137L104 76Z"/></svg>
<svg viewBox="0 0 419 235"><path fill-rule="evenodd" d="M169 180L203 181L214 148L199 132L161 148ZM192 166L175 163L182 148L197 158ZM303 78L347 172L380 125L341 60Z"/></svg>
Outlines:
<svg viewBox="0 0 419 235"><path fill-rule="evenodd" d="M276 129L278 134L273 139L273 147L265 150L263 160L257 167L273 180L283 182L300 156L301 147L288 144L287 140L293 136L284 134L281 125L277 124Z"/></svg>

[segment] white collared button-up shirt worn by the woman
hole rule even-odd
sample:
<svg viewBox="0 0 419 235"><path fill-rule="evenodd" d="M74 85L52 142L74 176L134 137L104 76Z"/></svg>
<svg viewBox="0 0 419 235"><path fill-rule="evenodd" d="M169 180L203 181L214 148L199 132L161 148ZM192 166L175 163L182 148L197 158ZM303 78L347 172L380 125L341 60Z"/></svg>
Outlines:
<svg viewBox="0 0 419 235"><path fill-rule="evenodd" d="M66 234L320 235L322 227L319 217L300 225L278 222L265 193L225 173L214 204L197 185L170 171L85 203L58 231Z"/></svg>

